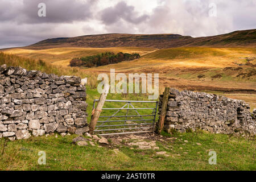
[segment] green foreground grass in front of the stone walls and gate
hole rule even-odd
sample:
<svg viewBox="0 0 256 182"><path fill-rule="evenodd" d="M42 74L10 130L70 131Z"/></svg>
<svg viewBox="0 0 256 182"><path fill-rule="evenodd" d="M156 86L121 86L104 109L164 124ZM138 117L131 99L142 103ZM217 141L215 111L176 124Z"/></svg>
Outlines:
<svg viewBox="0 0 256 182"><path fill-rule="evenodd" d="M166 135L166 134L165 134ZM202 132L176 134L156 141L158 150L126 146L77 146L75 135L31 137L7 142L1 150L0 170L255 170L255 141ZM186 142L184 142L187 140ZM111 143L111 140L109 140ZM5 140L0 139L0 146ZM114 150L118 148L118 151ZM217 164L208 163L209 151ZM46 165L38 164L38 152L46 152ZM166 151L168 156L156 155Z"/></svg>

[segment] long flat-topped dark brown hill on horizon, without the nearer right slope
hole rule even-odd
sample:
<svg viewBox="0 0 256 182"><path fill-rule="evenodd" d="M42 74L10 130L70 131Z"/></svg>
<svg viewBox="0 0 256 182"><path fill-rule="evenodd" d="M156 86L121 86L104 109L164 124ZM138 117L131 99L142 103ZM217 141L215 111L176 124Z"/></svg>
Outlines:
<svg viewBox="0 0 256 182"><path fill-rule="evenodd" d="M190 36L177 34L155 34L155 35L134 35L134 34L101 34L86 35L75 38L54 38L46 39L28 46L28 48L48 47L153 47L164 48L184 46L183 41L191 39Z"/></svg>

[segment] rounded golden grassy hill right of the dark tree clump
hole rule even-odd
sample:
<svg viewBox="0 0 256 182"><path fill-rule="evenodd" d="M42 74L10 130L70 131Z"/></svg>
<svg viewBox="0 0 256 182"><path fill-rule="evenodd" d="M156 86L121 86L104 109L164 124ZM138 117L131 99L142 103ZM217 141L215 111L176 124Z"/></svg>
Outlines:
<svg viewBox="0 0 256 182"><path fill-rule="evenodd" d="M125 73L159 73L160 76L167 78L166 81L171 77L204 81L205 84L207 81L217 81L219 85L232 81L250 84L248 82L256 81L255 68L244 64L255 65L255 57L255 48L168 48L146 53L138 60L123 61L86 70L93 72L116 69L117 72ZM225 69L227 67L232 69Z"/></svg>

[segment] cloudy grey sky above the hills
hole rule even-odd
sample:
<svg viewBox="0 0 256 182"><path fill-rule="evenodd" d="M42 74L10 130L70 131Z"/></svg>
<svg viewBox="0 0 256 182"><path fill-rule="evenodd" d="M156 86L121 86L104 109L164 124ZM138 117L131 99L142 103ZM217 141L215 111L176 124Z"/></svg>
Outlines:
<svg viewBox="0 0 256 182"><path fill-rule="evenodd" d="M225 34L256 28L255 11L256 0L0 0L0 48L105 33Z"/></svg>

